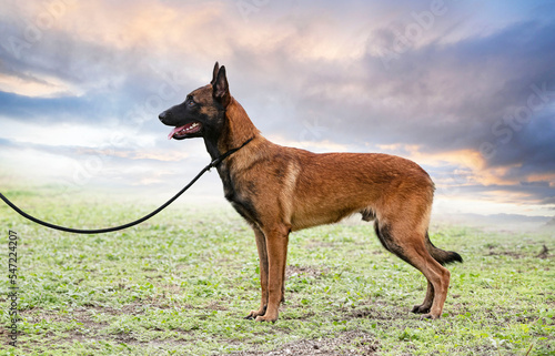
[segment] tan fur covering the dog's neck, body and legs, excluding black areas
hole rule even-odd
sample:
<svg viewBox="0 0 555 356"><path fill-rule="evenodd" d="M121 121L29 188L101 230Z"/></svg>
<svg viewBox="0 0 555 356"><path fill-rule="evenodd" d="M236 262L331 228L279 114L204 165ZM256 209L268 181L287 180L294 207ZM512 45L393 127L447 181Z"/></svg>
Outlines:
<svg viewBox="0 0 555 356"><path fill-rule="evenodd" d="M435 302L428 316L440 317L450 274L430 256L424 244L434 192L434 184L424 170L412 161L386 154L315 154L274 144L253 129L235 100L231 101L226 118L230 132L221 140L222 152L254 134L254 140L230 157L225 166L240 194L249 195L242 190L249 182L260 185L260 195L251 196L261 214L260 222L253 225L260 231L258 238L265 240L263 255L270 253L270 245L276 246L275 256L268 257L270 265L262 263L265 257L261 258L261 281L268 282L262 282L261 307L251 312L251 317L259 321L278 318L290 232L335 223L359 212L366 216L373 212L380 223L394 226L393 234L398 236L396 244L407 250L405 258L423 271L432 281L431 286L438 286L435 298L433 287L428 287L432 291L426 294L423 309ZM275 274L272 273L274 264L279 269Z"/></svg>

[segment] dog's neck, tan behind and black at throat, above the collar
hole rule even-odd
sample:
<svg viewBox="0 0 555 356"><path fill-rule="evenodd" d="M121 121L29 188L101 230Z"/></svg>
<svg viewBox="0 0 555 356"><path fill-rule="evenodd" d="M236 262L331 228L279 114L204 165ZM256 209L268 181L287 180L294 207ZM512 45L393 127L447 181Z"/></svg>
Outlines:
<svg viewBox="0 0 555 356"><path fill-rule="evenodd" d="M206 151L213 160L260 135L260 131L254 126L243 106L233 98L225 109L224 120L225 126L219 138L204 140Z"/></svg>

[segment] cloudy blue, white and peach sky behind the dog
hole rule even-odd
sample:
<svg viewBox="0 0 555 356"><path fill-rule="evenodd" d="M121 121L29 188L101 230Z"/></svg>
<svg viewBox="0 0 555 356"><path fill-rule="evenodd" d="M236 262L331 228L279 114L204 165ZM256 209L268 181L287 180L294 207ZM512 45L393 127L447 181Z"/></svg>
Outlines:
<svg viewBox="0 0 555 356"><path fill-rule="evenodd" d="M436 212L555 214L553 1L2 0L0 182L171 196L209 155L158 114L216 60L274 142L412 159Z"/></svg>

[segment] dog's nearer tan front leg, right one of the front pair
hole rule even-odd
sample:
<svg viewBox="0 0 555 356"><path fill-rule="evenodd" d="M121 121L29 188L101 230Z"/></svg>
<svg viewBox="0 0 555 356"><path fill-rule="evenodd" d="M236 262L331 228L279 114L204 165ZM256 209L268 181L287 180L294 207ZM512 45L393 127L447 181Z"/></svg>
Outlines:
<svg viewBox="0 0 555 356"><path fill-rule="evenodd" d="M283 271L287 256L289 232L285 225L264 230L268 251L268 306L258 322L275 322L283 293ZM261 272L262 273L262 272Z"/></svg>

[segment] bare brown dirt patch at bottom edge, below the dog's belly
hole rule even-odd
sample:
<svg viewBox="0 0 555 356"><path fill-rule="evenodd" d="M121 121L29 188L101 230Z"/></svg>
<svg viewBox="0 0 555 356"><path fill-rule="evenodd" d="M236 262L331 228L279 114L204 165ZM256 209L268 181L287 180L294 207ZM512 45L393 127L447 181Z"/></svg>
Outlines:
<svg viewBox="0 0 555 356"><path fill-rule="evenodd" d="M306 355L376 355L380 349L380 343L373 339L369 334L361 332L347 332L337 337L320 339L302 339L289 343L279 349L271 352L240 352L231 355L251 356L306 356Z"/></svg>

